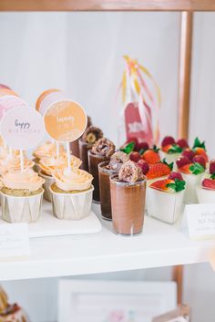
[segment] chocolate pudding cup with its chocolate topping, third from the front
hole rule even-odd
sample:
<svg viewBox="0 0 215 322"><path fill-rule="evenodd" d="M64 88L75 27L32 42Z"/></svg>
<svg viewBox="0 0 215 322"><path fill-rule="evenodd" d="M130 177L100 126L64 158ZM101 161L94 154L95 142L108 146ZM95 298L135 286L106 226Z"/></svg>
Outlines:
<svg viewBox="0 0 215 322"><path fill-rule="evenodd" d="M99 180L98 180L98 163L103 161L109 161L111 155L115 151L115 145L110 140L105 138L97 140L92 150L88 151L88 167L89 173L94 177L93 185L93 201L100 203L100 192L99 192Z"/></svg>

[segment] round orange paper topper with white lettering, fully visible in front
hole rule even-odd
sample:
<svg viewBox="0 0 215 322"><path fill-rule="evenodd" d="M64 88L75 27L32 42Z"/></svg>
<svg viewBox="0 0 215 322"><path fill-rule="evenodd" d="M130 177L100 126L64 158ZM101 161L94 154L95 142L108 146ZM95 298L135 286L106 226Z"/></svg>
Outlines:
<svg viewBox="0 0 215 322"><path fill-rule="evenodd" d="M44 114L47 133L58 142L72 142L81 137L87 127L85 110L72 100L52 104Z"/></svg>

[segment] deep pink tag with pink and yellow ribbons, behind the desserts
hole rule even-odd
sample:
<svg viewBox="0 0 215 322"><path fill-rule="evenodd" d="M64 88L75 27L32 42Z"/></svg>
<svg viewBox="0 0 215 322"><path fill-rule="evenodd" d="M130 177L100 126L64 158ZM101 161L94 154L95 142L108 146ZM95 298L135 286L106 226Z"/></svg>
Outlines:
<svg viewBox="0 0 215 322"><path fill-rule="evenodd" d="M159 143L160 90L147 68L124 56L126 68L120 88L126 122L127 139L136 137L150 145ZM149 83L148 83L149 81ZM154 93L154 95L153 95Z"/></svg>

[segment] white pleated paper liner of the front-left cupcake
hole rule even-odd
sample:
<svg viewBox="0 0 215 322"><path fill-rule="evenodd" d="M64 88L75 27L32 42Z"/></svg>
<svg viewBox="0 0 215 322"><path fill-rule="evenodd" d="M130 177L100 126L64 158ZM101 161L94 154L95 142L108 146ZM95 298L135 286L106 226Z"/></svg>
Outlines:
<svg viewBox="0 0 215 322"><path fill-rule="evenodd" d="M34 196L15 197L1 192L2 219L8 223L35 223L40 216L44 190Z"/></svg>

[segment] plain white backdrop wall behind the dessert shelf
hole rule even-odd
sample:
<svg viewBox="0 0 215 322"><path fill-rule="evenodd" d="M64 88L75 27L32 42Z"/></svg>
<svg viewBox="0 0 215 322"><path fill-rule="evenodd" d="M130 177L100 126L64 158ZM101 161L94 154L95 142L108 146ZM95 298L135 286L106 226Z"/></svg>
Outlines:
<svg viewBox="0 0 215 322"><path fill-rule="evenodd" d="M195 15L190 138L213 140L215 14ZM14 88L34 106L46 88L63 88L79 101L107 137L117 140L115 95L128 54L152 72L162 93L161 133L176 134L179 62L177 13L0 14L0 83ZM169 269L108 275L109 278L167 278ZM193 322L214 322L215 278L209 265L185 271L185 299ZM107 277L104 275L103 277ZM56 318L57 279L5 283L33 321ZM30 295L29 295L30 292ZM37 306L36 306L37 304ZM204 316L206 315L206 316ZM40 322L41 322L40 321Z"/></svg>

